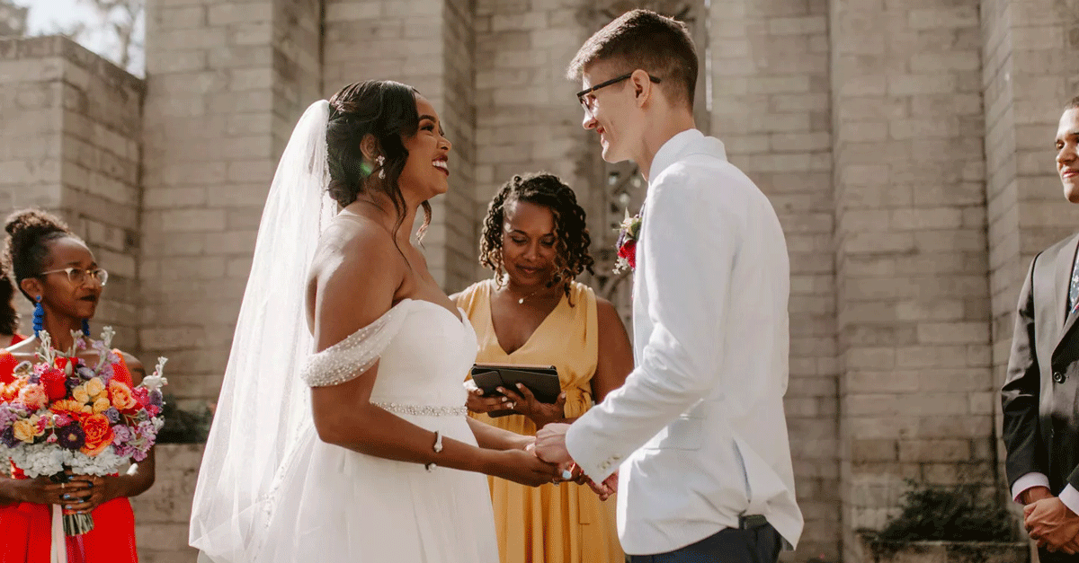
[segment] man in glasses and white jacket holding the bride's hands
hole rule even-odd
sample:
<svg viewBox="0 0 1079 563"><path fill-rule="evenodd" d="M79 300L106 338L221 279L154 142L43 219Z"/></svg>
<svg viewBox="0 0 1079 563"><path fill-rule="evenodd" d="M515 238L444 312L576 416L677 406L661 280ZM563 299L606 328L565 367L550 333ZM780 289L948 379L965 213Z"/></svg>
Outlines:
<svg viewBox="0 0 1079 563"><path fill-rule="evenodd" d="M595 483L622 475L631 562L775 562L802 533L783 415L787 244L768 200L695 128L685 26L634 10L570 64L603 160L648 181L633 286L637 369L536 453ZM600 486L600 485L597 485Z"/></svg>

